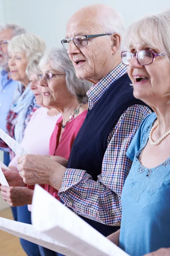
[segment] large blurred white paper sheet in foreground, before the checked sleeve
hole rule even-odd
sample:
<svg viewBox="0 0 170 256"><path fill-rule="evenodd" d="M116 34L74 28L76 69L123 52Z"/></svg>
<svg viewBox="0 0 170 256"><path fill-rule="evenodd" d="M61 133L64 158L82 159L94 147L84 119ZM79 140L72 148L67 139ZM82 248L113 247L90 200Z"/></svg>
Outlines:
<svg viewBox="0 0 170 256"><path fill-rule="evenodd" d="M80 256L128 255L38 185L34 189L31 219L36 230Z"/></svg>

